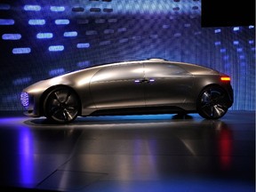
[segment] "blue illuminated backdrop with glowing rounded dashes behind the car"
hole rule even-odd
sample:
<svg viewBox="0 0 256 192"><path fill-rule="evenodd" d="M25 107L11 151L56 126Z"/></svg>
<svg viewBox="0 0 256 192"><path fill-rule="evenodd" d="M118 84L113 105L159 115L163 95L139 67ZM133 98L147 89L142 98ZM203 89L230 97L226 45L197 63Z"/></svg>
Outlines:
<svg viewBox="0 0 256 192"><path fill-rule="evenodd" d="M232 109L255 109L254 26L201 27L201 0L1 1L0 110L22 88L122 60L197 63L232 77Z"/></svg>

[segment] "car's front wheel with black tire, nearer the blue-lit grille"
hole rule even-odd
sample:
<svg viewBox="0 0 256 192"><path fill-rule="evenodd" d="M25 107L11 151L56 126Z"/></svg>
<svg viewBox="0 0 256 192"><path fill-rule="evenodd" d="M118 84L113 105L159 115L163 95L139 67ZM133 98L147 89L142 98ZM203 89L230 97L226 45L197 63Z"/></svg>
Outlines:
<svg viewBox="0 0 256 192"><path fill-rule="evenodd" d="M47 119L68 124L76 119L80 102L76 92L68 87L58 87L49 92L44 100L44 115Z"/></svg>

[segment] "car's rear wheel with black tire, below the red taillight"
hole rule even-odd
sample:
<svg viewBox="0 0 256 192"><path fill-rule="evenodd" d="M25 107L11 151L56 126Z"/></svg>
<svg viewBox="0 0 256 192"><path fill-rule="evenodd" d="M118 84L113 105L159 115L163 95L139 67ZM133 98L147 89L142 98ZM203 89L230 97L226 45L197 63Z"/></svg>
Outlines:
<svg viewBox="0 0 256 192"><path fill-rule="evenodd" d="M208 86L197 100L197 112L206 119L218 119L228 111L228 94L220 86Z"/></svg>

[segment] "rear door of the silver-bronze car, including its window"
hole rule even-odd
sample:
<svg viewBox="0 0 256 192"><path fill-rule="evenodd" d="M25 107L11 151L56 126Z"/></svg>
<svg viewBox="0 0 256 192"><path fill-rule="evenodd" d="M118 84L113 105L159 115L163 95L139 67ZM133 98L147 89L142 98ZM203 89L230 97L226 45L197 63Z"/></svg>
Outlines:
<svg viewBox="0 0 256 192"><path fill-rule="evenodd" d="M184 103L191 92L193 76L170 63L145 63L147 106Z"/></svg>

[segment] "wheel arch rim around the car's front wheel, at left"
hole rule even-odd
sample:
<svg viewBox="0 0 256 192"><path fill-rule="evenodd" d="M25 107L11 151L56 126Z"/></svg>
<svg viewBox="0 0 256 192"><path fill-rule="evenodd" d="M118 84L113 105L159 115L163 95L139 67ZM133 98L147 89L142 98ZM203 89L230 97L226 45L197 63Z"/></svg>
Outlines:
<svg viewBox="0 0 256 192"><path fill-rule="evenodd" d="M79 110L78 110L78 116L81 115L81 111L82 111L82 104L81 104L81 98L80 96L77 94L76 90L73 89L72 87L68 86L67 84L56 84L56 85L53 85L51 87L49 87L48 89L46 89L42 96L40 97L40 100L39 100L39 106L40 106L40 115L41 116L45 116L45 113L44 113L44 100L46 99L47 95L52 92L53 90L57 89L57 88L68 88L70 90L72 90L72 92L75 92L76 93L76 97L78 98L78 102L79 102Z"/></svg>

